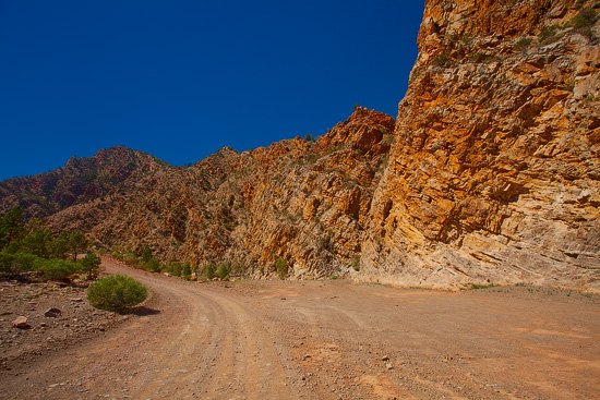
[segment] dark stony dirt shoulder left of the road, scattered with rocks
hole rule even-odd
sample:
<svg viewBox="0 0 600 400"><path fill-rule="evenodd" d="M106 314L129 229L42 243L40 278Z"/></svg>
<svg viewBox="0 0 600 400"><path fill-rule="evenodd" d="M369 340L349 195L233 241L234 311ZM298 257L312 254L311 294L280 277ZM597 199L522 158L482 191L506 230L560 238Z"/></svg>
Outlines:
<svg viewBox="0 0 600 400"><path fill-rule="evenodd" d="M0 371L80 346L131 317L92 307L86 289L85 282L0 281ZM14 326L20 317L22 328Z"/></svg>

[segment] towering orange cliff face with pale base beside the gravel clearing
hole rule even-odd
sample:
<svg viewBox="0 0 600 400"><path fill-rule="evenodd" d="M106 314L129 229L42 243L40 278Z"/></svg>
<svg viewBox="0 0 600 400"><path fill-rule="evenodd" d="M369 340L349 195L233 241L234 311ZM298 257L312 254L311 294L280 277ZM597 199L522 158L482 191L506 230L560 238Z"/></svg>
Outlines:
<svg viewBox="0 0 600 400"><path fill-rule="evenodd" d="M600 290L593 7L427 1L361 279Z"/></svg>

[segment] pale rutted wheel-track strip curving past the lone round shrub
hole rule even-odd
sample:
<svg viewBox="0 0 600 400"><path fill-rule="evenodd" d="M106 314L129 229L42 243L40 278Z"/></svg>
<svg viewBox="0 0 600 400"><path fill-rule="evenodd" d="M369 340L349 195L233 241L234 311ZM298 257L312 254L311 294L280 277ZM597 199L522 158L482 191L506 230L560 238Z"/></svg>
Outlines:
<svg viewBox="0 0 600 400"><path fill-rule="evenodd" d="M156 393L169 398L292 399L280 360L263 324L226 294L202 291L178 279L128 270L154 290L167 288L185 308L184 325L160 357L161 367L152 384L139 376L129 391L136 398ZM169 281L169 283L165 283ZM158 286L157 286L158 283ZM144 385L145 384L145 385Z"/></svg>

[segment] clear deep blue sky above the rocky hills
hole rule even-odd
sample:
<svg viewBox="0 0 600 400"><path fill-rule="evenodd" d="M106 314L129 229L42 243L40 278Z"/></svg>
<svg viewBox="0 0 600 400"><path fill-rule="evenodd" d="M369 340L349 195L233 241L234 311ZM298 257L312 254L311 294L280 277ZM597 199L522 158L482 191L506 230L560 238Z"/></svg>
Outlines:
<svg viewBox="0 0 600 400"><path fill-rule="evenodd" d="M179 166L396 117L424 1L0 0L0 180L123 145Z"/></svg>

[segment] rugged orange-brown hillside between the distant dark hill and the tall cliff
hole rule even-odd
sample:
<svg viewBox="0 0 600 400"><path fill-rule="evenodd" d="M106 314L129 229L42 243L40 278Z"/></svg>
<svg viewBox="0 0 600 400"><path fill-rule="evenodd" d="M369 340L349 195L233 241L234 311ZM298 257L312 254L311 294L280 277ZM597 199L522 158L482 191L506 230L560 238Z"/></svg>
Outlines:
<svg viewBox="0 0 600 400"><path fill-rule="evenodd" d="M189 168L146 169L127 187L51 215L98 246L148 244L161 262L229 262L250 275L357 275L371 199L395 121L357 108L316 142L300 137Z"/></svg>

